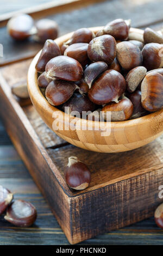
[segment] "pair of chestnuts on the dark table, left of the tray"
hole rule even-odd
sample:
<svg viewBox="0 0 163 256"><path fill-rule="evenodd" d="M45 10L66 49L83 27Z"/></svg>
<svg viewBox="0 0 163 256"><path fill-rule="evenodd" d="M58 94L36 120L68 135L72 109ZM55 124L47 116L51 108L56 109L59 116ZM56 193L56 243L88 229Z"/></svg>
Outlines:
<svg viewBox="0 0 163 256"><path fill-rule="evenodd" d="M36 220L37 212L33 204L24 200L13 200L13 194L0 186L0 215L17 227L30 227Z"/></svg>

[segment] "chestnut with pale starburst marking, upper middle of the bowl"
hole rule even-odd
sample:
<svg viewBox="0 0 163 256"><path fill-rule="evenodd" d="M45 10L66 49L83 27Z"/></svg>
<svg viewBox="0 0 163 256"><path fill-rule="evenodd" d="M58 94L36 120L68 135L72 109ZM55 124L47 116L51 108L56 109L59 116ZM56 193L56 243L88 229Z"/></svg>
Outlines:
<svg viewBox="0 0 163 256"><path fill-rule="evenodd" d="M92 62L111 64L116 57L116 41L111 35L101 35L90 41L87 54Z"/></svg>

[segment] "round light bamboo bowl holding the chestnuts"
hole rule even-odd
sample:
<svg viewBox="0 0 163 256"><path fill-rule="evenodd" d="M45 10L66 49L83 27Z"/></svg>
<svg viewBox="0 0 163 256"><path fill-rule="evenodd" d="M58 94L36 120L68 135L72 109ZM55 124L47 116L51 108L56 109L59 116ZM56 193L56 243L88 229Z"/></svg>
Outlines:
<svg viewBox="0 0 163 256"><path fill-rule="evenodd" d="M97 32L99 29L101 27L91 28L93 32ZM70 38L72 33L61 36L55 41L61 46L63 42ZM142 35L143 31L131 28L130 35L132 36L135 33ZM39 55L40 52L33 59L28 71L30 99L43 121L65 141L87 150L115 153L142 147L161 135L163 131L163 110L133 120L111 123L103 122L104 129L108 129L108 131L110 129L110 135L108 136L102 136L103 129L98 129L98 121L84 120L86 129L82 130L80 125L83 119L76 118L76 126L73 126L72 122L75 118L50 105L40 92L40 88L37 85L37 72L35 70L35 64ZM55 124L59 121L58 130L54 130L53 121ZM70 128L63 130L62 125L73 126L73 130Z"/></svg>

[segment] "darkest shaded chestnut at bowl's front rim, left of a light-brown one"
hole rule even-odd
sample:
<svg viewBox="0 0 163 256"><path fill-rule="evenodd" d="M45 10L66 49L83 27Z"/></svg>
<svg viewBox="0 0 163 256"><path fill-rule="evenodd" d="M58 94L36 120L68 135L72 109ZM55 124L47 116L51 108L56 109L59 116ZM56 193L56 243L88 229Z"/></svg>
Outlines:
<svg viewBox="0 0 163 256"><path fill-rule="evenodd" d="M66 101L64 105L62 105L62 109L66 114L78 111L80 115L82 115L83 111L94 111L96 109L96 105L90 101L87 95L74 93L70 100Z"/></svg>

